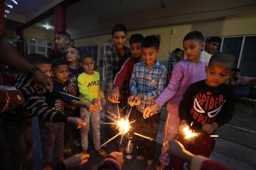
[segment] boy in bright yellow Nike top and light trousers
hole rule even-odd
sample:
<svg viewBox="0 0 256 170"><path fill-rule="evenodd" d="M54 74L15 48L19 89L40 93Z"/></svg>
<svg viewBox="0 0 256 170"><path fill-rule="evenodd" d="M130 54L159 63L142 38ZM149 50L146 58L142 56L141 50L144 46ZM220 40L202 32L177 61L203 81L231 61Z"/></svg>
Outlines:
<svg viewBox="0 0 256 170"><path fill-rule="evenodd" d="M88 52L81 53L79 60L79 65L84 70L84 72L82 72L82 74L80 74L77 79L80 92L79 97L88 100L101 110L101 102L104 106L106 104L106 100L103 92L100 90L99 72L93 70L95 63L93 55ZM99 155L105 157L106 152L100 149L100 114L92 113L86 108L80 108L80 117L84 122L87 123L87 126L81 128L82 153L87 154L88 132L91 118L95 150Z"/></svg>

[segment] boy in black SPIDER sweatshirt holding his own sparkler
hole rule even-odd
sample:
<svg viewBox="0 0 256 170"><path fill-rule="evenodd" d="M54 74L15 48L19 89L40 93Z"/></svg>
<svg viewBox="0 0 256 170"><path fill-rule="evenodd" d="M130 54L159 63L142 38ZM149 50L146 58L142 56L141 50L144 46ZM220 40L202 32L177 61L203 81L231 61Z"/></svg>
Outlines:
<svg viewBox="0 0 256 170"><path fill-rule="evenodd" d="M206 80L191 84L180 103L178 140L195 155L209 157L215 145L215 139L210 135L233 116L234 91L224 83L232 76L234 63L231 54L214 54L205 66ZM188 127L187 124L191 130L199 132L198 137L184 139L182 130ZM181 159L174 159L174 169L180 169L183 164Z"/></svg>

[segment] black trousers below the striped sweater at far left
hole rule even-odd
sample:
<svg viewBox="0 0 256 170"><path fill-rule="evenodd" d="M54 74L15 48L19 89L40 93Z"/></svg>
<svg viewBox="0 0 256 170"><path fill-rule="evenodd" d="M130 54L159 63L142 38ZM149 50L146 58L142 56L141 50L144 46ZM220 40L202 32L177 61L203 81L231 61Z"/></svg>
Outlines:
<svg viewBox="0 0 256 170"><path fill-rule="evenodd" d="M32 169L33 132L31 119L22 122L1 120L3 135L10 147L10 169Z"/></svg>

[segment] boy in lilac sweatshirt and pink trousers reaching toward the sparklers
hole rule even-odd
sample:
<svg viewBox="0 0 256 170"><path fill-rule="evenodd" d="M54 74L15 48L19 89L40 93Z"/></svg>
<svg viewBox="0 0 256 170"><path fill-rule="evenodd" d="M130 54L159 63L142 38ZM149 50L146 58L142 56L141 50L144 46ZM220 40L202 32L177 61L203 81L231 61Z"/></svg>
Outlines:
<svg viewBox="0 0 256 170"><path fill-rule="evenodd" d="M200 62L200 54L204 45L203 35L199 31L189 32L184 37L183 48L187 59L175 64L167 87L155 103L144 110L143 116L145 118L151 117L169 100L166 107L168 115L164 125L164 141L176 138L180 125L179 105L188 86L206 78L206 63ZM159 160L161 164L156 169L165 169L169 164L169 154L163 148Z"/></svg>

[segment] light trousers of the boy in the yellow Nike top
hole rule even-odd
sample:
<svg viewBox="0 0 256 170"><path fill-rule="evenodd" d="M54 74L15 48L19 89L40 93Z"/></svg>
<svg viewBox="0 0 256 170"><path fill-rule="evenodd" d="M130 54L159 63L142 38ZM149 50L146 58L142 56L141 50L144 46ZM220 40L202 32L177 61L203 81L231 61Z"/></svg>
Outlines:
<svg viewBox="0 0 256 170"><path fill-rule="evenodd" d="M100 113L88 112L86 108L80 108L80 117L87 125L81 128L81 145L83 150L88 149L88 132L90 128L90 117L93 127L93 143L95 150L100 149Z"/></svg>

